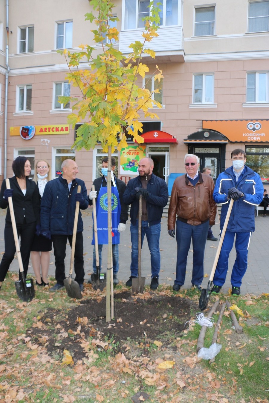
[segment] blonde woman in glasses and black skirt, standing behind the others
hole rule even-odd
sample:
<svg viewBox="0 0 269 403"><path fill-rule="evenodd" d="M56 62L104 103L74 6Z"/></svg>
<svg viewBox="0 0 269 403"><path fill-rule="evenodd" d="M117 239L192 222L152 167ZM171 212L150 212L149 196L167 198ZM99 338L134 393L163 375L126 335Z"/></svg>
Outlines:
<svg viewBox="0 0 269 403"><path fill-rule="evenodd" d="M33 181L37 185L40 200L42 199L46 183L50 180L50 164L47 160L38 160L35 163ZM41 227L39 225L31 247L31 262L33 272L35 273L35 284L40 287L48 287L48 268L50 264L52 240L40 235L40 229Z"/></svg>

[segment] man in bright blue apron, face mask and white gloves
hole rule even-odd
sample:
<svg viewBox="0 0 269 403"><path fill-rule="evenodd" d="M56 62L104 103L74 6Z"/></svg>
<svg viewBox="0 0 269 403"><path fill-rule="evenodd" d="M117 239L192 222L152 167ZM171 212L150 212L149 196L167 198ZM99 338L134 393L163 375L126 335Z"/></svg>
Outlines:
<svg viewBox="0 0 269 403"><path fill-rule="evenodd" d="M119 284L117 272L119 271L119 241L120 233L125 231L125 223L128 220L129 206L123 203L122 196L125 192L126 185L123 181L115 177L116 160L111 157L111 198L112 198L112 259L113 259L113 283ZM108 229L107 229L107 167L108 157L102 160L102 177L94 180L95 190L89 193L89 204L92 206L92 199L96 199L96 218L97 218L97 236L98 236L98 253L99 266L102 266L102 247L108 244ZM95 244L92 237L92 245ZM96 249L94 245L92 267L94 274L96 273ZM88 280L92 283L92 280Z"/></svg>

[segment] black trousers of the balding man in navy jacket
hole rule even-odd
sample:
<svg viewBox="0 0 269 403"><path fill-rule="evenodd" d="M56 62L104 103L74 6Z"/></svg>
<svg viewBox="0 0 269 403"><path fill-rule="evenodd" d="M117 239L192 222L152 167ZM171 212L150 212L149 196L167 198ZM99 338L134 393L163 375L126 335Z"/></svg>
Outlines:
<svg viewBox="0 0 269 403"><path fill-rule="evenodd" d="M72 235L52 235L54 256L55 256L55 278L58 284L63 285L65 280L65 256L66 243L69 240L72 247ZM74 257L75 281L83 284L84 281L84 260L83 260L83 235L82 232L77 232Z"/></svg>

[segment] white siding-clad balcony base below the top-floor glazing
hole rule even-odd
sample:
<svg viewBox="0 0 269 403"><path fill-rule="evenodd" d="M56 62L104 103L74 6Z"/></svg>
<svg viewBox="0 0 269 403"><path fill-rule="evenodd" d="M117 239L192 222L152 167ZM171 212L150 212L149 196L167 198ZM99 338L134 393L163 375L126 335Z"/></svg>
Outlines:
<svg viewBox="0 0 269 403"><path fill-rule="evenodd" d="M129 54L131 49L129 45L135 41L143 41L143 29L129 29L121 31L119 34L119 50L123 54ZM161 27L158 29L157 37L151 42L146 42L146 48L156 52L155 59L152 59L147 54L143 54L143 61L151 62L184 62L184 36L181 26Z"/></svg>

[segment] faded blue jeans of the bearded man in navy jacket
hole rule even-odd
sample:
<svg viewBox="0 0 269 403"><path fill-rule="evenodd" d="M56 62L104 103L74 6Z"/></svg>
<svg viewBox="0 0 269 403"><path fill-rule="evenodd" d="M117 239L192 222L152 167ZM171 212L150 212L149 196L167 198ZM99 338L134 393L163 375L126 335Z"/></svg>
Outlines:
<svg viewBox="0 0 269 403"><path fill-rule="evenodd" d="M138 276L138 220L136 225L131 223L131 276ZM148 226L148 221L142 220L141 228L141 247L143 245L144 236L146 234L148 248L150 250L151 276L158 276L161 268L161 254L159 240L161 234L161 223Z"/></svg>

